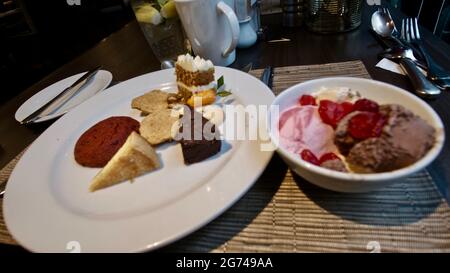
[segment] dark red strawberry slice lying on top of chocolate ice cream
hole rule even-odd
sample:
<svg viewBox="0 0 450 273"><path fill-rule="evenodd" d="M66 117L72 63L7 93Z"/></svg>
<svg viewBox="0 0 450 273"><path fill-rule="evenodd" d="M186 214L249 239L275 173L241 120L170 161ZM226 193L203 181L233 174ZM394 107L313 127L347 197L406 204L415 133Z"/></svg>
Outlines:
<svg viewBox="0 0 450 273"><path fill-rule="evenodd" d="M350 119L348 131L356 139L379 137L386 121L387 118L379 113L362 112Z"/></svg>

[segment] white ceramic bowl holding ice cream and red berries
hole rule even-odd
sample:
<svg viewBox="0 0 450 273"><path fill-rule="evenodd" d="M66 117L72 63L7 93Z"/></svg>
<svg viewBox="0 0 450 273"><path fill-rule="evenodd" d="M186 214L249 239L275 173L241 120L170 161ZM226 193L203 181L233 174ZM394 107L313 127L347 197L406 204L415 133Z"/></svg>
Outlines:
<svg viewBox="0 0 450 273"><path fill-rule="evenodd" d="M298 155L287 151L283 147L277 147L277 152L289 167L309 182L319 187L339 192L372 191L420 171L430 164L441 151L445 139L444 125L436 112L426 102L413 94L383 82L349 77L322 78L307 81L282 92L276 97L273 105L278 105L280 113L282 113L285 109L296 104L301 95L310 94L321 87L349 87L359 91L362 97L374 100L379 104L396 103L403 105L436 128L436 142L431 150L413 165L392 172L376 174L342 173L325 169L302 160ZM278 119L269 113L268 121L270 123L270 137L273 143L279 143L277 139L278 134L273 133L275 132L274 130L278 130Z"/></svg>

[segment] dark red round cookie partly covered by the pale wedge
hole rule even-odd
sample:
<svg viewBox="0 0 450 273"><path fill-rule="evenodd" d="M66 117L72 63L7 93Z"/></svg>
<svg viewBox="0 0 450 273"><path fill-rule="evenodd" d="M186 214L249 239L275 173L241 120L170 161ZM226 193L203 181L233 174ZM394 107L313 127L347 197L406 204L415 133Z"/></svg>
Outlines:
<svg viewBox="0 0 450 273"><path fill-rule="evenodd" d="M75 160L86 167L104 167L133 131L139 132L139 122L130 117L102 120L78 139Z"/></svg>

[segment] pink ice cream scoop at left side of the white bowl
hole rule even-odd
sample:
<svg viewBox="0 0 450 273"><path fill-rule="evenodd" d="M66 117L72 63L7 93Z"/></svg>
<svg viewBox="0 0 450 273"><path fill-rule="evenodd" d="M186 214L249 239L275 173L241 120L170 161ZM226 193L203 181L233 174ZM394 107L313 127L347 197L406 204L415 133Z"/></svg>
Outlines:
<svg viewBox="0 0 450 273"><path fill-rule="evenodd" d="M308 149L320 157L338 151L334 130L323 123L317 106L294 106L284 111L278 126L279 144L292 153L300 154Z"/></svg>

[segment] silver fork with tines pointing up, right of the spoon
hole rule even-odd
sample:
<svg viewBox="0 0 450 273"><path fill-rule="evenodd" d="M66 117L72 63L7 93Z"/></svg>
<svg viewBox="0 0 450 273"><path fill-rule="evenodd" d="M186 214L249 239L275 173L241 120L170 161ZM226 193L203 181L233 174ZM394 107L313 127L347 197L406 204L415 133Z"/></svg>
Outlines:
<svg viewBox="0 0 450 273"><path fill-rule="evenodd" d="M428 66L427 76L430 80L434 81L441 88L450 87L450 74L431 58L423 46L417 18L402 20L400 38L409 44L413 44L420 51Z"/></svg>

